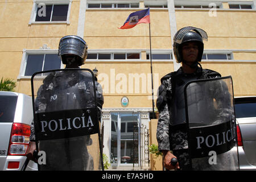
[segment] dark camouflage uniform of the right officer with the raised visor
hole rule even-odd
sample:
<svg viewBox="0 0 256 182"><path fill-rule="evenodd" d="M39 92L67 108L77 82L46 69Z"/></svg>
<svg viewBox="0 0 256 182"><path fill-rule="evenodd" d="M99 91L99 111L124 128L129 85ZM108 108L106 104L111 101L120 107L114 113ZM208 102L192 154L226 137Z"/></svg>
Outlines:
<svg viewBox="0 0 256 182"><path fill-rule="evenodd" d="M176 72L169 73L161 78L159 96L156 101L156 106L159 110L156 131L158 150L173 151L179 162L180 169L189 170L191 168L189 164L186 123L172 126L174 115L172 115L171 111L171 102L174 97L175 87L177 85L184 86L188 81L215 77L221 77L220 73L197 67L196 72L192 74L185 74L182 68L179 68Z"/></svg>

